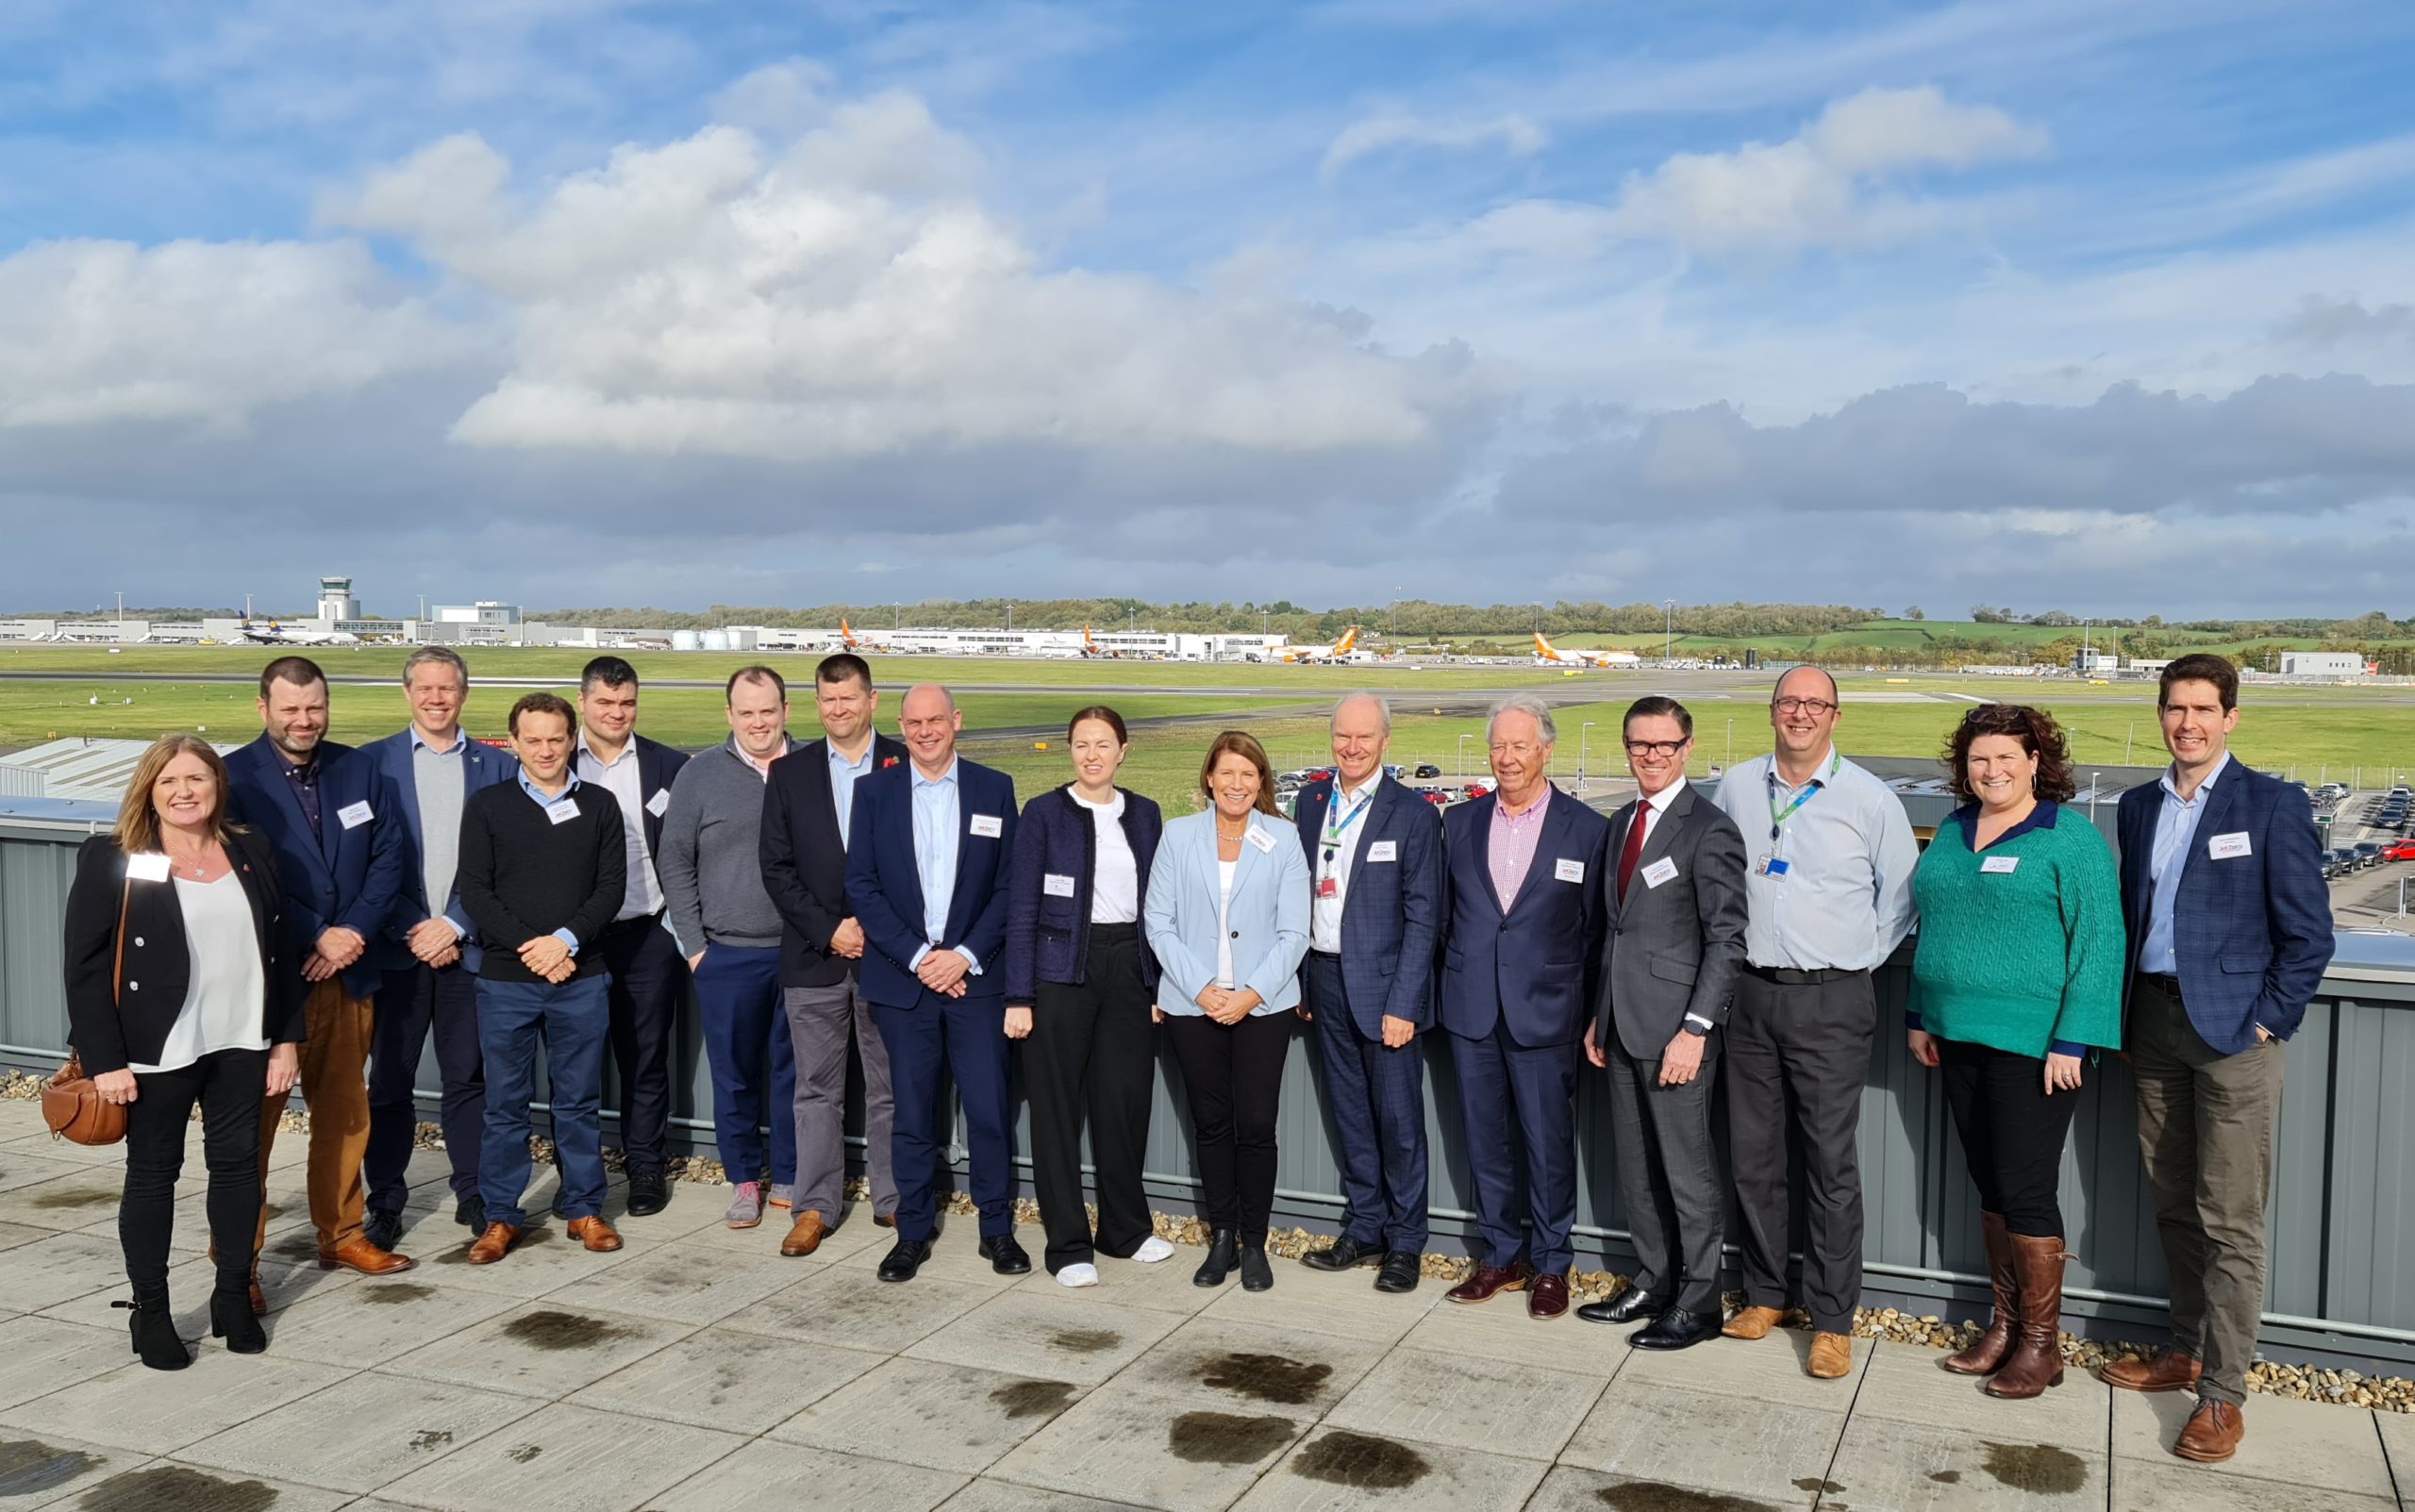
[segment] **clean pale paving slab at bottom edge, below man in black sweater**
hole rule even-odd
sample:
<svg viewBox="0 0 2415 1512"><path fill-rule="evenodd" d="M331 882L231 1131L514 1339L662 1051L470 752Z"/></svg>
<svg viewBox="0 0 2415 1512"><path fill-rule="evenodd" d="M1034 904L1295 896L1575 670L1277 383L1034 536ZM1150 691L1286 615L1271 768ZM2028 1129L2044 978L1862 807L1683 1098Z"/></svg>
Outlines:
<svg viewBox="0 0 2415 1512"><path fill-rule="evenodd" d="M744 1444L686 1423L553 1403L379 1495L440 1512L630 1512Z"/></svg>

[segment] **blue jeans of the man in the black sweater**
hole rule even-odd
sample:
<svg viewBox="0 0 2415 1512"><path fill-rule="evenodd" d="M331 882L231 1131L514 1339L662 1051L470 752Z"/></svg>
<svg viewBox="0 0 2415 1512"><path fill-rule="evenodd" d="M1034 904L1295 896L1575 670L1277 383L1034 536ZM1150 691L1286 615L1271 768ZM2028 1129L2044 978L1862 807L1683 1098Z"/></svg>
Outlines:
<svg viewBox="0 0 2415 1512"><path fill-rule="evenodd" d="M485 1140L478 1196L485 1220L529 1225L519 1193L529 1188L529 1101L536 1097L536 1041L546 1043L546 1097L553 1150L563 1169L563 1212L604 1212L604 1039L611 1029L609 978L560 985L478 981L478 1048L485 1053Z"/></svg>

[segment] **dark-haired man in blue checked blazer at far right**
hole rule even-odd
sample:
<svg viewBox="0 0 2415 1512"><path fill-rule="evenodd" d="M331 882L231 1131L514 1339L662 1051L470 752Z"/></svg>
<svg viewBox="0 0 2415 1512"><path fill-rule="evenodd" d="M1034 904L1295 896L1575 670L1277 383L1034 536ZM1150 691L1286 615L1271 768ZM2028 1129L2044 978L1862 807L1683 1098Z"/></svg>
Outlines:
<svg viewBox="0 0 2415 1512"><path fill-rule="evenodd" d="M2103 1369L2130 1391L2195 1389L2174 1454L2215 1464L2246 1432L2265 1295L2265 1196L2282 1043L2330 964L2330 891L2306 792L2231 761L2239 671L2178 657L2157 688L2171 768L2120 795L2130 927L2123 1048L2171 1285L2171 1348Z"/></svg>

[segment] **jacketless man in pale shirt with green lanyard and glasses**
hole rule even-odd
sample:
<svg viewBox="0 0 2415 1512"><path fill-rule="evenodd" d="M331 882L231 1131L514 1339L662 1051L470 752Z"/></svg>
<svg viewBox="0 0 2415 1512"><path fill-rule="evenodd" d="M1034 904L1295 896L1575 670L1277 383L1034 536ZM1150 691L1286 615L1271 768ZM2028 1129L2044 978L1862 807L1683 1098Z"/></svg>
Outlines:
<svg viewBox="0 0 2415 1512"><path fill-rule="evenodd" d="M1862 1299L1855 1130L1879 1002L1869 976L1913 930L1920 848L1903 799L1835 751L1835 679L1790 667L1770 691L1768 756L1734 766L1719 809L1746 850L1744 973L1727 1017L1727 1157L1744 1217L1744 1312L1765 1338L1787 1307L1787 1142L1802 1147L1804 1307L1814 1377L1852 1369Z"/></svg>

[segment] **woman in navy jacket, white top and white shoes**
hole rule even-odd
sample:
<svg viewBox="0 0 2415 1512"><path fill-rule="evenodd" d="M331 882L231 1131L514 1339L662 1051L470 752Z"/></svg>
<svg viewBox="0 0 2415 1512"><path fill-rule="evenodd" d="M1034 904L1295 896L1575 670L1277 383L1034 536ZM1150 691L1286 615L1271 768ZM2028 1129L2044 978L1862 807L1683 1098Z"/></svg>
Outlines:
<svg viewBox="0 0 2415 1512"><path fill-rule="evenodd" d="M1157 1080L1157 959L1140 901L1164 819L1116 787L1130 749L1123 715L1084 708L1065 727L1075 780L1029 804L1014 826L1007 889L1007 1039L1024 1041L1031 1099L1031 1186L1048 1229L1048 1273L1099 1283L1096 1254L1154 1266L1174 1254L1140 1184ZM1099 1181L1099 1237L1082 1208L1082 1113Z"/></svg>

